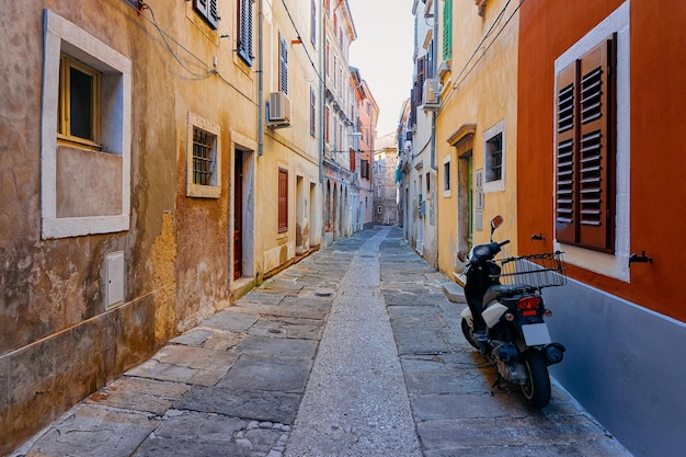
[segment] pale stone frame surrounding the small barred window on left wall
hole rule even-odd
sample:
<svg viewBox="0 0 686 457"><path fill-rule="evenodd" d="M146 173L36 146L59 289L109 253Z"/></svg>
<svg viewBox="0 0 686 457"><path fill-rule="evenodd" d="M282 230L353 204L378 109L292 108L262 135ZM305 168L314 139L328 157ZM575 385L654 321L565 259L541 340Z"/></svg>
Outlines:
<svg viewBox="0 0 686 457"><path fill-rule="evenodd" d="M199 128L215 136L213 147L213 176L210 185L193 182L193 128ZM221 196L221 137L220 127L195 113L188 112L186 127L186 196L196 198L219 198Z"/></svg>

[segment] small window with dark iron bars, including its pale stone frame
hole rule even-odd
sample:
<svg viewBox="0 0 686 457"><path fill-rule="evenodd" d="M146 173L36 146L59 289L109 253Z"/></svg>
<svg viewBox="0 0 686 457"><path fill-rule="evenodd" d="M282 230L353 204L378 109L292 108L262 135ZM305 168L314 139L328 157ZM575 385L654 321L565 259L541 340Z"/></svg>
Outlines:
<svg viewBox="0 0 686 457"><path fill-rule="evenodd" d="M221 155L219 125L188 113L186 195L219 198L221 194Z"/></svg>

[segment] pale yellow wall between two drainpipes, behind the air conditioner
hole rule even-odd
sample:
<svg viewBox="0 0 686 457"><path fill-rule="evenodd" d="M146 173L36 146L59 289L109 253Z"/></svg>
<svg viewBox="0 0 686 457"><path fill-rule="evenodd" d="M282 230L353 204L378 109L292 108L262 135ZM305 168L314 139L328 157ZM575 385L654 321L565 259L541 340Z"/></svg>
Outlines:
<svg viewBox="0 0 686 457"><path fill-rule="evenodd" d="M290 13L290 16L288 15ZM318 11L318 14L321 12ZM278 91L279 39L288 47L288 98L290 126L265 127L264 153L258 158L255 178L255 265L258 276L268 275L293 261L301 237L308 245L320 243L317 216L321 210L319 183L319 41L310 38L310 4L265 3L264 102ZM291 20L295 22L295 26ZM319 33L319 31L318 31ZM301 36L301 42L297 37ZM317 98L316 135L310 135L310 91ZM288 230L278 232L278 170L288 172ZM316 187L313 194L310 193ZM300 187L300 188L298 188ZM300 192L298 192L298 190ZM315 198L315 202L312 202ZM258 278L260 279L260 277Z"/></svg>

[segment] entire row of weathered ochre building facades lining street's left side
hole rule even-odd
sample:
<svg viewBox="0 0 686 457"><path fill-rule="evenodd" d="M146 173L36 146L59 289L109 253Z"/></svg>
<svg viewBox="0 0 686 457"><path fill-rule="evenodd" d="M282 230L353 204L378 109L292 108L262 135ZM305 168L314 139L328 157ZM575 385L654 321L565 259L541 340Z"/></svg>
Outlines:
<svg viewBox="0 0 686 457"><path fill-rule="evenodd" d="M0 454L353 230L347 3L173 3L0 14Z"/></svg>

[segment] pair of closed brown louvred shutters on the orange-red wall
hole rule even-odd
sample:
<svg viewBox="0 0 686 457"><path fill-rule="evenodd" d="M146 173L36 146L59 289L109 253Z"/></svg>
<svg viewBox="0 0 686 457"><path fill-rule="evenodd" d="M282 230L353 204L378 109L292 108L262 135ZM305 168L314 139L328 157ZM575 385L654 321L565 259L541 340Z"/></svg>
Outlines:
<svg viewBox="0 0 686 457"><path fill-rule="evenodd" d="M603 252L615 244L615 59L608 37L557 76L556 236Z"/></svg>

